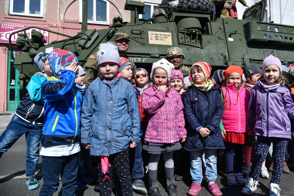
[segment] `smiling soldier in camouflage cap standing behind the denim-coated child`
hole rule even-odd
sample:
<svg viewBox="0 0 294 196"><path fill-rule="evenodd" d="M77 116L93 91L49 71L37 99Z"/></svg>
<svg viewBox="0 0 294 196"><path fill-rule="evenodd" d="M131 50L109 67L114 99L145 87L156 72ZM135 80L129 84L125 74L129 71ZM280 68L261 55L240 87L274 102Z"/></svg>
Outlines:
<svg viewBox="0 0 294 196"><path fill-rule="evenodd" d="M128 47L129 47L129 41L130 41L130 37L126 33L120 32L114 35L113 43L118 47L119 56L127 58L128 60L130 60L130 58L128 58L128 55L126 55L126 51L128 50ZM89 84L93 80L101 76L96 66L96 58L97 58L97 52L90 55L88 61L83 67L84 71L86 72L85 79L84 79L84 84L86 85L86 89L88 88ZM132 71L136 70L137 69L136 65L131 60L130 62L132 64Z"/></svg>

